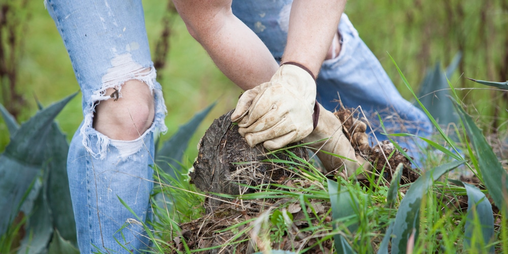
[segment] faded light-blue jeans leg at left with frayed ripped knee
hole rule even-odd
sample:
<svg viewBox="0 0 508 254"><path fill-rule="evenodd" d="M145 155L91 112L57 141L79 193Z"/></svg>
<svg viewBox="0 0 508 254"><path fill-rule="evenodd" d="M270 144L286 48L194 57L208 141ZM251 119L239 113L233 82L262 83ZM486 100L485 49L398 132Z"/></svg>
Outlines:
<svg viewBox="0 0 508 254"><path fill-rule="evenodd" d="M81 87L83 122L74 135L67 170L81 253L127 252L148 244L140 222L149 217L153 133L166 131L166 107L150 60L141 1L45 2ZM146 69L150 69L148 72ZM155 119L133 141L112 140L92 128L94 107L128 80L152 90ZM141 221L119 201L122 199ZM118 242L120 244L118 244Z"/></svg>

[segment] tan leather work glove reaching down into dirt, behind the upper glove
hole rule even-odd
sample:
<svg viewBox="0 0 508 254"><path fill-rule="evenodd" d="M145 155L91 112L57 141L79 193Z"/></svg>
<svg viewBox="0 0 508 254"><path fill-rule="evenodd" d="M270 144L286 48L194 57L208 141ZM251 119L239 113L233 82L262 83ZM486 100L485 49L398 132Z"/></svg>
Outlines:
<svg viewBox="0 0 508 254"><path fill-rule="evenodd" d="M357 156L355 154L355 149L353 148L352 141L348 140L348 138L344 135L342 131L342 122L339 120L335 114L320 107L320 116L319 122L317 123L316 129L303 139L303 142L309 143L308 146L317 150L317 157L320 158L323 166L328 172L340 169L344 167L345 170L340 174L344 177L350 177L352 175L357 174L357 170L362 168L363 171L370 171L370 164L365 161L365 159L361 156ZM365 134L365 129L363 129L363 133ZM322 140L320 142L315 142L318 140ZM368 140L357 140L354 139L353 142L359 142ZM356 145L356 144L355 144ZM365 144L360 144L365 145ZM366 144L368 146L368 143ZM322 151L327 151L329 153L337 154L342 157L349 158L350 160L346 160L345 158L338 157L336 155L331 155L324 153ZM357 179L363 179L363 175L358 175Z"/></svg>

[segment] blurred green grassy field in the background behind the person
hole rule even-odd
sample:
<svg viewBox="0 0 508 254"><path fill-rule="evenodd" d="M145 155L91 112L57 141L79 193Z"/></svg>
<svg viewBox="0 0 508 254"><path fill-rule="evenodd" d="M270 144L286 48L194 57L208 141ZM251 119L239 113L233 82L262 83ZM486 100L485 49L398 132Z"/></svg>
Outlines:
<svg viewBox="0 0 508 254"><path fill-rule="evenodd" d="M11 30L16 31L16 42L20 42L16 47L19 61L6 58L1 62L4 66L14 66L17 72L14 91L18 97L12 96L10 82L3 77L0 100L7 108L17 111L18 121L23 122L37 111L34 98L47 106L75 92L79 86L43 1L1 0L0 5L17 8L11 11L11 16L6 16L2 10L2 43L10 41L9 27L5 25L9 22L17 24ZM155 54L165 22L170 25L169 51L163 59L166 65L157 70L169 112L166 117L169 131L162 139L171 137L179 125L217 101L187 149L185 160L190 165L197 154L199 138L214 118L235 107L241 89L218 71L202 47L188 35L171 4L145 0L143 5L152 54ZM418 90L427 68L436 62L446 66L461 51L462 61L455 75L449 77L451 83L460 89L459 95L468 112L486 134L506 133L506 92L476 84L465 77L490 81L508 79L508 0L350 1L346 13L404 98L410 101L409 91L403 87L388 53L412 87ZM471 91L470 88L475 89ZM57 117L68 139L81 120L80 98L71 101ZM0 151L8 142L7 127L0 120Z"/></svg>

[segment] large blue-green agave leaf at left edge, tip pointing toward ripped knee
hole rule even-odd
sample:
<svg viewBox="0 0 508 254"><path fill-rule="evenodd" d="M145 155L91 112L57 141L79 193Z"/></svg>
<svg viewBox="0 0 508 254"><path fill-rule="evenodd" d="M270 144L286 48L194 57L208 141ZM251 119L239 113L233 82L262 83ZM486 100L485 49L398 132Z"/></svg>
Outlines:
<svg viewBox="0 0 508 254"><path fill-rule="evenodd" d="M74 97L71 96L39 111L21 124L0 156L0 235L4 234L19 204L46 163L46 143L55 116Z"/></svg>

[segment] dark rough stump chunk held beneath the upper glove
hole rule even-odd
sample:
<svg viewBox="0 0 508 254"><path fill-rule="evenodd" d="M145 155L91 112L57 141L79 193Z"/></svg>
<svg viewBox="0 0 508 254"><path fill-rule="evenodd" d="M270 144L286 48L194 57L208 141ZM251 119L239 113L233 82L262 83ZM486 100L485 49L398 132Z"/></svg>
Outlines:
<svg viewBox="0 0 508 254"><path fill-rule="evenodd" d="M231 122L233 110L215 119L198 145L198 157L191 182L208 193L240 195L252 192L246 186L260 186L292 178L284 162L295 160L294 154L308 160L307 149L289 144L287 150L270 152L259 144L250 147L238 133L238 125ZM246 185L241 186L240 184ZM224 198L211 195L205 199L207 213L223 203Z"/></svg>

